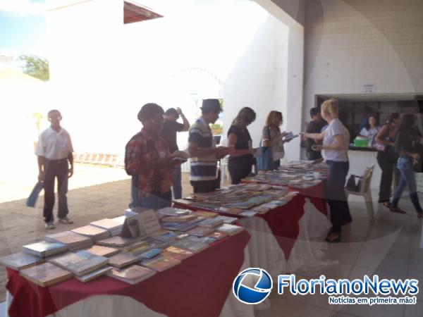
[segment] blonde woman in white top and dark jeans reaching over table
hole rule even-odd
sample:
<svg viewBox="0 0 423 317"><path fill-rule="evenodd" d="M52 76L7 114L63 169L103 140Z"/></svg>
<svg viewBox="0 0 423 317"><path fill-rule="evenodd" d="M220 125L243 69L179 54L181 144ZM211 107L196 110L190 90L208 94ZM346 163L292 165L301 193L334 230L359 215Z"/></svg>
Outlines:
<svg viewBox="0 0 423 317"><path fill-rule="evenodd" d="M315 151L329 166L326 180L326 197L331 208L332 228L326 237L328 242L341 240L341 227L350 223L352 218L345 196L344 186L350 163L348 161L348 142L350 132L338 119L338 101L329 99L321 105L321 118L327 121L328 128L321 133L302 133L302 137L323 140L323 144L314 145Z"/></svg>

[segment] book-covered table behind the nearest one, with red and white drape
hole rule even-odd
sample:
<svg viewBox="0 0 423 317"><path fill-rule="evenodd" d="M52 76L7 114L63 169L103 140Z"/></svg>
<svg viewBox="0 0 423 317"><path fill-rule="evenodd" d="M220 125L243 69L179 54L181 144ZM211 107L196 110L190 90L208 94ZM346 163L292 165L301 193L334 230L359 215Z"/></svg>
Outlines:
<svg viewBox="0 0 423 317"><path fill-rule="evenodd" d="M274 177L277 173L269 174ZM323 241L331 228L323 182L293 182L293 178L270 182L258 176L228 189L178 199L174 207L212 211L219 213L219 218L231 218L243 225L251 235L248 247L252 266L270 273L321 266L326 247Z"/></svg>

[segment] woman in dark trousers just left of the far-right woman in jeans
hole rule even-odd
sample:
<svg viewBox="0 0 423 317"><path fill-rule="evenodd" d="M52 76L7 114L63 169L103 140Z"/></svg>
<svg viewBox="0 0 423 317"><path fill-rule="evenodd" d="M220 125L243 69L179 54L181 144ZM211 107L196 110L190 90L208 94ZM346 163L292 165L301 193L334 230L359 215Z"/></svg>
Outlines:
<svg viewBox="0 0 423 317"><path fill-rule="evenodd" d="M388 116L386 125L384 125L375 137L377 154L377 163L382 170L381 183L379 185L379 204L389 205L391 199L391 188L393 174L399 179L400 171L396 168L398 154L394 149L395 138L400 126L400 115L391 113Z"/></svg>

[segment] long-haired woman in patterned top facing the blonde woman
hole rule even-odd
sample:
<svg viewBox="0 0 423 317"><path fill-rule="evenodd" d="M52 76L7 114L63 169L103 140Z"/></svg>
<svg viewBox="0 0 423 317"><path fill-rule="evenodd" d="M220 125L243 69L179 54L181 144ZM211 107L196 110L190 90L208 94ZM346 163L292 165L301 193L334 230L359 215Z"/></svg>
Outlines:
<svg viewBox="0 0 423 317"><path fill-rule="evenodd" d="M281 132L281 128L279 128L282 123L282 113L279 111L270 111L262 133L262 147L264 148L262 151L264 155L267 152L266 156L268 162L264 164L265 166L263 166L262 169L277 170L278 167L281 166L281 159L285 157L283 144L288 141L283 140L283 137L285 137L287 133Z"/></svg>

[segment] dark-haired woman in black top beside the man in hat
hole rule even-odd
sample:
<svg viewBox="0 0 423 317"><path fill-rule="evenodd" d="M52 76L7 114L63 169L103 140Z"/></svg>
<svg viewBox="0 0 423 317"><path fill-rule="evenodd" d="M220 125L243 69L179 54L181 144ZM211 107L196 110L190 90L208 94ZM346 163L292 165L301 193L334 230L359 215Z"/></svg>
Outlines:
<svg viewBox="0 0 423 317"><path fill-rule="evenodd" d="M228 130L228 147L235 146L235 154L229 156L228 163L232 184L239 184L243 178L246 178L254 165L252 154L255 154L256 149L252 149L252 140L247 125L250 125L255 118L254 110L244 107Z"/></svg>

